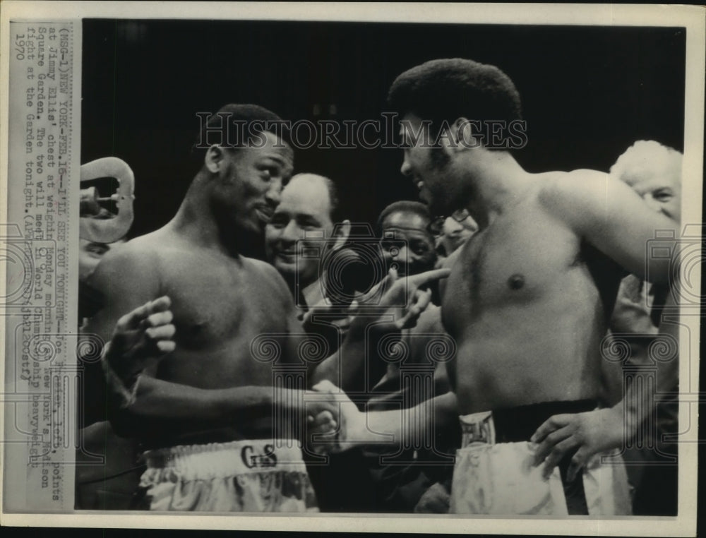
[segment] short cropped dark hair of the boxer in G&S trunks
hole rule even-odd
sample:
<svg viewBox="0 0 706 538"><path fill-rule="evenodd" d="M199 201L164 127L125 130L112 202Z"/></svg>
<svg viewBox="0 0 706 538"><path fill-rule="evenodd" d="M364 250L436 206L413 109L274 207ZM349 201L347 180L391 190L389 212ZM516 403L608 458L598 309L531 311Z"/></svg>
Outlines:
<svg viewBox="0 0 706 538"><path fill-rule="evenodd" d="M191 146L191 155L203 162L203 155L212 143L220 143L224 148L242 148L264 131L277 133L282 141L289 143L286 122L271 110L258 104L226 104L209 116Z"/></svg>

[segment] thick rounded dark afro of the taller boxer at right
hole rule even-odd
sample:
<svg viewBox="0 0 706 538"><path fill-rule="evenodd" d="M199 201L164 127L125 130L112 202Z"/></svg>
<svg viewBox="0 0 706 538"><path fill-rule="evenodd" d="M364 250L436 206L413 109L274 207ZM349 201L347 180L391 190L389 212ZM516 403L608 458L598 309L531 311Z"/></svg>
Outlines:
<svg viewBox="0 0 706 538"><path fill-rule="evenodd" d="M395 78L388 104L400 116L411 112L431 121L437 136L443 123L522 119L520 94L496 66L462 58L427 61Z"/></svg>

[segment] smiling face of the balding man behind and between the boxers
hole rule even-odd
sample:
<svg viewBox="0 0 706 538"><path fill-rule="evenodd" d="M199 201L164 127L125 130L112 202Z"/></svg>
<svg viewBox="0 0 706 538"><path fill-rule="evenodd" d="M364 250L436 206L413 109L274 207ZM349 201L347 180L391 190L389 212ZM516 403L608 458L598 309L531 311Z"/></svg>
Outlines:
<svg viewBox="0 0 706 538"><path fill-rule="evenodd" d="M297 174L282 191L282 201L265 227L268 261L287 280L299 273L307 286L319 275L322 256L303 256L305 251L323 251L333 232L331 200L325 179L315 174ZM314 236L314 237L312 237Z"/></svg>

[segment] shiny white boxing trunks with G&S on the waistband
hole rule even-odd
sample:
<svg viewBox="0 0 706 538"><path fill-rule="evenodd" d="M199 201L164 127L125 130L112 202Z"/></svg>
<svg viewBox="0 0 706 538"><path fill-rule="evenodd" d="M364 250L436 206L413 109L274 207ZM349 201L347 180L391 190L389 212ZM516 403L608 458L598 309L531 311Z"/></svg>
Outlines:
<svg viewBox="0 0 706 538"><path fill-rule="evenodd" d="M144 508L205 512L316 512L297 441L232 441L143 454Z"/></svg>

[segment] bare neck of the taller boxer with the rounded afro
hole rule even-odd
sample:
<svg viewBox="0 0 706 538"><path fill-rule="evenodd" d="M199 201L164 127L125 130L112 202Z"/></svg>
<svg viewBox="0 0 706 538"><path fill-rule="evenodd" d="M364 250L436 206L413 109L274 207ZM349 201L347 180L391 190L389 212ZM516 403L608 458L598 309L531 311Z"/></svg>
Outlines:
<svg viewBox="0 0 706 538"><path fill-rule="evenodd" d="M480 229L488 227L498 215L525 198L530 174L507 152L485 150L481 159L472 157L467 167L469 181L468 213Z"/></svg>

